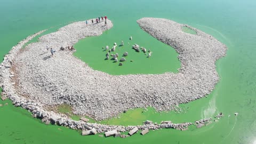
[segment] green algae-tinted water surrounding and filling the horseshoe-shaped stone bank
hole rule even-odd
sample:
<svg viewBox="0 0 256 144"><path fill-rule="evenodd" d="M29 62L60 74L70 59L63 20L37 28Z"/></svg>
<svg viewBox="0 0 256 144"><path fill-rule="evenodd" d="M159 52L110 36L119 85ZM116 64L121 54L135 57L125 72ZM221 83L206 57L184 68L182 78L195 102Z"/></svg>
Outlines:
<svg viewBox="0 0 256 144"><path fill-rule="evenodd" d="M135 134L126 139L98 135L82 137L75 130L44 125L38 119L32 118L27 110L15 108L7 100L9 105L0 107L0 143L256 143L255 6L255 1L236 0L1 1L1 57L23 38L37 31L104 15L113 21L114 27L102 36L86 38L77 43L75 56L81 57L94 69L106 73L119 75L177 72L180 67L177 53L139 28L136 20L142 17L166 18L186 23L219 39L228 46L228 51L225 58L216 62L221 79L215 90L207 98L180 105L182 113L155 113L151 108L141 113L142 109L136 109L121 114L119 119L102 122L134 125L149 119L154 122L171 120L178 123L194 122L215 116L219 112L225 115L209 126L201 129L192 126L187 131L150 131L146 135ZM104 61L105 52L102 52L102 46L114 42L119 45L121 40L127 46L130 36L134 43L154 49L152 59L147 59L142 53L130 51L131 47L118 47L130 51L129 57L134 57L133 63L125 61L122 67L118 67L115 63ZM88 58L93 53L97 55L95 58L102 59L93 61ZM0 100L0 103L4 104L6 101ZM238 113L238 116L235 117L234 113Z"/></svg>

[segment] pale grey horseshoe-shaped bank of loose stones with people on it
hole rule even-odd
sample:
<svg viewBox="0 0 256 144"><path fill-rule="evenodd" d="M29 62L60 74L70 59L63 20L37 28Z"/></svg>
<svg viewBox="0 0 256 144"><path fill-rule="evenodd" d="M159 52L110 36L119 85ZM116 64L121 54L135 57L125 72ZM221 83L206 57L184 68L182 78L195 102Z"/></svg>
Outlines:
<svg viewBox="0 0 256 144"><path fill-rule="evenodd" d="M202 98L214 89L219 79L215 61L225 56L227 47L224 44L195 28L192 29L196 35L184 33L182 26L187 25L171 20L142 18L137 22L143 30L179 53L181 68L178 74L113 76L93 70L70 51L58 51L51 58L46 47L59 50L61 46L71 46L87 36L101 35L113 26L109 20L107 26L103 22L90 26L75 22L40 37L24 50L22 45L42 31L14 46L0 66L3 90L15 103L21 106L26 103L23 107L33 113L67 103L73 106L75 114L101 120L132 108L151 106L158 111L170 110L179 103ZM54 113L47 112L47 115ZM79 123L85 129L81 122L69 119L65 122L69 126ZM98 125L90 126L97 128ZM79 126L75 128L79 129ZM120 129L126 130L122 126ZM104 126L99 129L98 126L97 130L110 129Z"/></svg>

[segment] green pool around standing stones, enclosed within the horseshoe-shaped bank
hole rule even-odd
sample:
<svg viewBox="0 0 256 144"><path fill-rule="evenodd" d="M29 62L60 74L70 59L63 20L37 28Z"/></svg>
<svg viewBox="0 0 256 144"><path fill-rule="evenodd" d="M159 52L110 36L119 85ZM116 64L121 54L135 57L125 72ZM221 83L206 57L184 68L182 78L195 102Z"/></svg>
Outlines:
<svg viewBox="0 0 256 144"><path fill-rule="evenodd" d="M75 45L77 51L74 55L88 63L93 69L104 71L111 75L162 74L169 71L178 73L178 68L180 68L180 62L177 58L178 53L171 46L149 36L149 34L140 29L132 18L125 19L125 21L133 21L133 25L127 27L127 29L122 27L123 23L113 21L113 29L106 31L103 35L79 41ZM132 41L129 39L130 36L132 36ZM121 46L121 41L124 41L124 46ZM110 60L111 56L109 60L105 60L105 55L107 54L106 45L111 49L114 43L117 43L116 50L110 52L109 55L118 53L118 59L121 59L124 52L129 53L127 57L123 57L126 61L122 62L122 67L118 66L119 62L114 62L114 59ZM140 52L135 52L132 49L133 44L146 47L147 52L143 53L141 50ZM153 52L150 58L148 58L148 50Z"/></svg>

